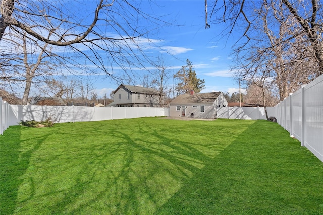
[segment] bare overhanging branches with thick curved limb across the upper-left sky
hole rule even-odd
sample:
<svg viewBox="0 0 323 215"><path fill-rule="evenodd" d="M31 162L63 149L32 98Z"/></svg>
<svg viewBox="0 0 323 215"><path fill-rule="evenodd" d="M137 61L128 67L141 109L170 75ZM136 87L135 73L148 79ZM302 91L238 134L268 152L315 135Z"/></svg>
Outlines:
<svg viewBox="0 0 323 215"><path fill-rule="evenodd" d="M51 58L56 65L64 67L65 73L103 72L117 82L131 79L135 75L134 68L154 64L142 47L152 46L154 40L150 35L156 26L166 23L141 11L139 2L96 2L2 0L0 41L3 43L6 39L11 43L8 47L16 46L23 44L23 40L15 36L25 35L26 47L38 46L37 55L28 54ZM16 54L12 46L10 50L11 56ZM1 55L6 53L1 50ZM44 63L43 58L41 63ZM17 66L12 59L5 60L0 68L4 70L7 65ZM34 73L43 72L39 66L34 68ZM11 77L14 81L19 69L15 67L11 73L4 74L3 80ZM115 69L123 72L116 73ZM19 73L22 74L21 71ZM32 69L30 75L28 78L32 78Z"/></svg>

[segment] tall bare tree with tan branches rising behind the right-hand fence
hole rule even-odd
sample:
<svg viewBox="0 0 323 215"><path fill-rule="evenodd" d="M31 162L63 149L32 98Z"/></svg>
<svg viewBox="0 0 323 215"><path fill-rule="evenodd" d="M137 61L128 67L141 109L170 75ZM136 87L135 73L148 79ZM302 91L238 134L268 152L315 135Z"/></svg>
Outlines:
<svg viewBox="0 0 323 215"><path fill-rule="evenodd" d="M289 2L237 0L224 1L222 5L215 2L211 13L213 23L230 23L229 34L243 32L234 45L235 78L262 90L266 90L270 83L270 89L279 95L280 100L321 74L319 54L315 51L317 46L310 39L313 35L309 36L303 29L306 24L300 25L300 20L307 19L306 13L310 13L314 17L309 20L319 24L321 21L317 16L323 11L316 8L317 1L311 1L309 5L305 5L307 1ZM305 13L297 15L293 8ZM217 17L216 12L221 10L221 17ZM315 29L317 34L322 33L317 26ZM319 43L321 38L314 37L315 43Z"/></svg>

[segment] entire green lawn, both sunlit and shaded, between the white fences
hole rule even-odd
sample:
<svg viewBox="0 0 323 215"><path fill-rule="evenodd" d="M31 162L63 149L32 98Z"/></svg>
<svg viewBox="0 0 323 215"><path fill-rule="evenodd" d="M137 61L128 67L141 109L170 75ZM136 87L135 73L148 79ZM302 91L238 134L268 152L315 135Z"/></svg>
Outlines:
<svg viewBox="0 0 323 215"><path fill-rule="evenodd" d="M0 214L323 214L323 163L263 120L12 126Z"/></svg>

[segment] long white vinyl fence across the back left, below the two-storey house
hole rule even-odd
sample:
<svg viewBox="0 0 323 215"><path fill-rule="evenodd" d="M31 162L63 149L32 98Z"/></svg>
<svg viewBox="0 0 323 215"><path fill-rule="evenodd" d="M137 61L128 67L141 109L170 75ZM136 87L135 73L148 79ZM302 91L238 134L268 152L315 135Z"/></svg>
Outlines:
<svg viewBox="0 0 323 215"><path fill-rule="evenodd" d="M2 102L2 106L4 107ZM4 108L3 108L4 109ZM37 105L8 105L9 113L1 120L6 126L18 125L23 121L44 121L50 118L55 123L88 122L111 119L129 119L149 116L168 116L168 108L151 107L83 107L83 106L37 106ZM3 110L4 112L4 110ZM6 127L6 128L7 128ZM5 130L5 129L3 129Z"/></svg>

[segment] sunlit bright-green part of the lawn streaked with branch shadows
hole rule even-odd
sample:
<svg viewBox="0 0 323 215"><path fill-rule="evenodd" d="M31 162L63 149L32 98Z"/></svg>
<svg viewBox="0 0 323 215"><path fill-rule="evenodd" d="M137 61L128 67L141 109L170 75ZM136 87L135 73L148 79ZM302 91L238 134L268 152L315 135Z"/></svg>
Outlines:
<svg viewBox="0 0 323 215"><path fill-rule="evenodd" d="M24 154L19 154L16 144L11 149L14 157L8 162L20 168L6 178L13 177L16 182L11 189L15 191L13 206L7 211L14 212L19 178L26 172L26 177L33 177L29 187L35 190L28 193L20 187L20 193L27 193L16 202L21 214L153 214L169 205L172 196L184 197L184 186L198 191L203 183L199 181L202 171L253 123L239 121L237 129L231 131L234 128L230 123L217 128L210 127L214 122L179 121L168 126L169 120L165 124L160 121L58 125L51 140L33 158L36 169L27 172L30 155L46 136L39 137ZM189 132L192 126L193 133ZM215 132L223 132L226 140L221 135L214 137Z"/></svg>

